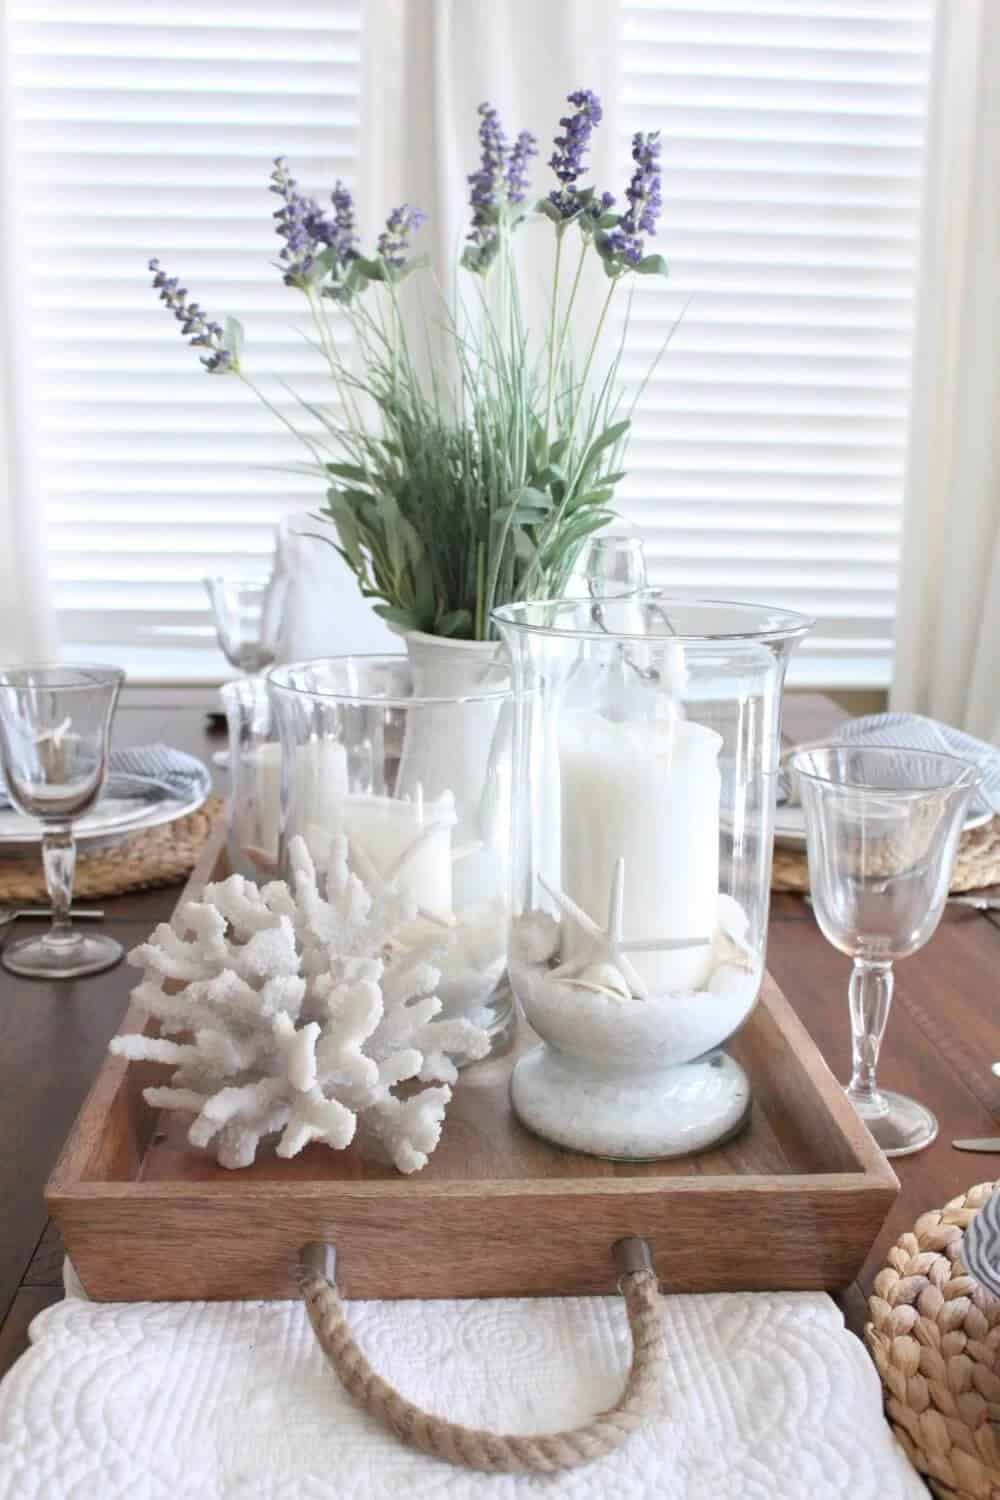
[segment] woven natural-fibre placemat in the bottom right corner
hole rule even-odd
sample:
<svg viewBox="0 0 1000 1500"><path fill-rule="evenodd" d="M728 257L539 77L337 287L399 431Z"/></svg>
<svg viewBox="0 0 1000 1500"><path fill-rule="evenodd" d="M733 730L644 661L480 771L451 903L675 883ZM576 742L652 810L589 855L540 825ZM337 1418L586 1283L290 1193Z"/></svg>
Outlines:
<svg viewBox="0 0 1000 1500"><path fill-rule="evenodd" d="M868 1299L865 1342L889 1422L915 1468L948 1500L999 1500L1000 1298L963 1263L981 1182L901 1234Z"/></svg>

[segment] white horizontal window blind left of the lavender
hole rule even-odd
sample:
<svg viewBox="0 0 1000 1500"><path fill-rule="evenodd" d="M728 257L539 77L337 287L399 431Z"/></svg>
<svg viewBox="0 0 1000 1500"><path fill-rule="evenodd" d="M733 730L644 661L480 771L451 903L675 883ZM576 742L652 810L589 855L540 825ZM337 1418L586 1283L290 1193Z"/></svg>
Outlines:
<svg viewBox="0 0 1000 1500"><path fill-rule="evenodd" d="M274 260L271 159L357 177L361 0L12 0L34 411L67 656L228 675L201 579L262 570L307 453L150 288L157 255L256 370L328 400ZM268 387L277 406L289 398ZM301 423L309 428L309 420Z"/></svg>

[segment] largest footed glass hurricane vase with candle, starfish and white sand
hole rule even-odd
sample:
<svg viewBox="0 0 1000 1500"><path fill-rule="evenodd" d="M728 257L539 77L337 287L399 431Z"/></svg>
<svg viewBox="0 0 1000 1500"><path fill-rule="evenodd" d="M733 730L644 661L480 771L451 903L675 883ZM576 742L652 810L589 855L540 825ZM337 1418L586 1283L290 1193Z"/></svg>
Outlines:
<svg viewBox="0 0 1000 1500"><path fill-rule="evenodd" d="M765 969L778 728L810 621L657 590L505 606L517 690L511 984L522 1122L642 1160L747 1118L721 1044Z"/></svg>

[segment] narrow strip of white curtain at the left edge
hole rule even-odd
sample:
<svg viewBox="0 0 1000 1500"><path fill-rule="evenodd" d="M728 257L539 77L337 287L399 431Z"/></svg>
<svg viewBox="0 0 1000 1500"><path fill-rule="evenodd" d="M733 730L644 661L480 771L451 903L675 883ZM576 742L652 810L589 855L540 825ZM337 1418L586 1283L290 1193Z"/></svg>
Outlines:
<svg viewBox="0 0 1000 1500"><path fill-rule="evenodd" d="M51 660L55 624L45 570L40 495L24 346L22 202L15 176L7 8L0 0L0 666Z"/></svg>

